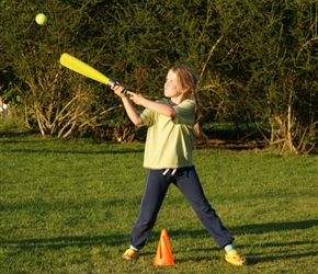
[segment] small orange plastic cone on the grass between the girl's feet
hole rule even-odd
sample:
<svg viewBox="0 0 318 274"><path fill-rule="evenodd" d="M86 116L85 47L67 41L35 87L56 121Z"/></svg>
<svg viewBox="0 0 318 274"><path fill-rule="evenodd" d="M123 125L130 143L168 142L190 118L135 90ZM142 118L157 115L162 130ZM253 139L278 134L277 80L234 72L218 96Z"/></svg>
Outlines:
<svg viewBox="0 0 318 274"><path fill-rule="evenodd" d="M166 229L161 230L154 265L174 265L169 237Z"/></svg>

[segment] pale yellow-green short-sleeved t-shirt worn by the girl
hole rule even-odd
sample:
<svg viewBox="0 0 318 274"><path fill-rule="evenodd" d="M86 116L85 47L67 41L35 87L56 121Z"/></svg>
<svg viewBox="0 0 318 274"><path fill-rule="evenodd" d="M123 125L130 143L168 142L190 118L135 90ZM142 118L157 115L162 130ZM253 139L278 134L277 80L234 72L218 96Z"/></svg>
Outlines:
<svg viewBox="0 0 318 274"><path fill-rule="evenodd" d="M170 105L168 100L158 103ZM195 139L195 104L193 100L184 100L172 106L177 117L167 117L145 109L140 114L143 125L148 126L144 156L147 169L177 169L193 167L192 150Z"/></svg>

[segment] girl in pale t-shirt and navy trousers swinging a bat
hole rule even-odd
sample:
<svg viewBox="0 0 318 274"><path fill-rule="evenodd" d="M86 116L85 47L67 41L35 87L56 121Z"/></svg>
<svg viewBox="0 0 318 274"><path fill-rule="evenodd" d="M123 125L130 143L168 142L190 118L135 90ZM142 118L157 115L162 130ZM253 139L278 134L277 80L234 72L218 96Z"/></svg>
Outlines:
<svg viewBox="0 0 318 274"><path fill-rule="evenodd" d="M130 247L123 254L125 260L137 260L139 250L151 232L168 187L173 183L185 196L193 210L215 242L226 251L225 259L235 265L243 265L234 238L209 205L192 161L195 135L201 133L196 117L197 76L188 66L172 67L167 75L164 96L156 102L135 92L123 92L117 83L112 89L122 99L130 121L137 126L147 126L144 168L148 169L139 216L130 233ZM138 113L133 105L145 110Z"/></svg>

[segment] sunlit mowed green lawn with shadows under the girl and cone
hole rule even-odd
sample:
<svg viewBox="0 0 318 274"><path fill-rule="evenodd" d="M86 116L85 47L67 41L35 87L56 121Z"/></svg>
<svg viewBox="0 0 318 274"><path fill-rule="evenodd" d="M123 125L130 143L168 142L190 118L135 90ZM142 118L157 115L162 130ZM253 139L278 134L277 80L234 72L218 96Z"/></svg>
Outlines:
<svg viewBox="0 0 318 274"><path fill-rule="evenodd" d="M243 267L225 262L171 185L135 262L122 261L138 215L144 144L0 137L0 273L317 273L318 157L195 149L204 191ZM154 266L166 228L174 266Z"/></svg>

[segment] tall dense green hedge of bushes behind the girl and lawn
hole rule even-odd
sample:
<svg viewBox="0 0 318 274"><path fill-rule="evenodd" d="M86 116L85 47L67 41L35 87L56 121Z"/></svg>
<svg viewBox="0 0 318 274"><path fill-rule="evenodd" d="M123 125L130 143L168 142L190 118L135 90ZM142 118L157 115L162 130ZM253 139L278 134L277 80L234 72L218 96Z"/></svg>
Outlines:
<svg viewBox="0 0 318 274"><path fill-rule="evenodd" d="M34 21L39 12L45 26ZM136 129L120 101L63 68L60 55L150 99L162 95L169 67L185 62L200 75L208 132L212 122L227 122L247 139L257 129L281 152L309 152L318 122L317 12L316 0L2 0L1 93L44 136L126 141Z"/></svg>

